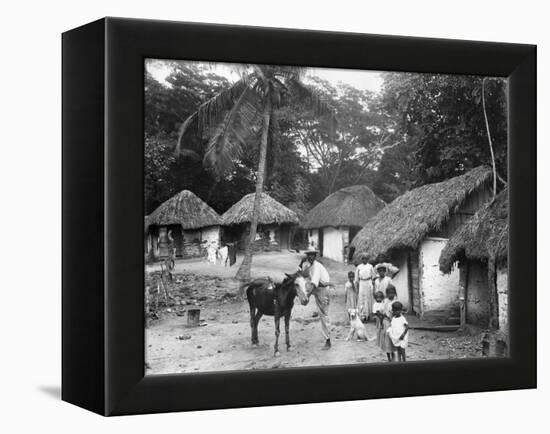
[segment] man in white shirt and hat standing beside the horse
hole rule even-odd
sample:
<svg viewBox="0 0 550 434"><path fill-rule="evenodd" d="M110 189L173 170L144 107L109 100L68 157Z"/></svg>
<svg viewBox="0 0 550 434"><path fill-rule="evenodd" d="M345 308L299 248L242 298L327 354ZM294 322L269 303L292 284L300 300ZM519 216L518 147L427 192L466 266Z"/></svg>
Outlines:
<svg viewBox="0 0 550 434"><path fill-rule="evenodd" d="M319 310L319 318L321 320L321 333L325 338L325 346L323 350L328 350L331 347L330 343L330 319L328 316L328 307L330 298L327 286L330 282L330 276L327 269L317 261L317 251L307 250L305 259L300 262L300 269L307 272L311 282L308 283L308 296L313 294L315 303Z"/></svg>

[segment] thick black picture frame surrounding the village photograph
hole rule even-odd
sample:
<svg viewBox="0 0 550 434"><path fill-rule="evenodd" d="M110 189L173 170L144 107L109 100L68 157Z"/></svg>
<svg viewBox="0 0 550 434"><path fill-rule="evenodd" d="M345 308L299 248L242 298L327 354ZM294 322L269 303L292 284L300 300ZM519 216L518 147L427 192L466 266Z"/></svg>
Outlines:
<svg viewBox="0 0 550 434"><path fill-rule="evenodd" d="M63 400L124 415L536 387L536 46L104 18L62 51ZM508 77L510 357L145 377L145 58Z"/></svg>

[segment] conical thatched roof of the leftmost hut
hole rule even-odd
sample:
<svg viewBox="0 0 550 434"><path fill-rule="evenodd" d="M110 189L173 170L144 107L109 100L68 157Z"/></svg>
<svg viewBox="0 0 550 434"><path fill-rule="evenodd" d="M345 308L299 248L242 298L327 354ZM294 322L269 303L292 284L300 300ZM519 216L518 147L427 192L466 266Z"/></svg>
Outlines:
<svg viewBox="0 0 550 434"><path fill-rule="evenodd" d="M149 214L145 223L146 227L181 225L189 230L220 225L221 217L194 193L183 190Z"/></svg>

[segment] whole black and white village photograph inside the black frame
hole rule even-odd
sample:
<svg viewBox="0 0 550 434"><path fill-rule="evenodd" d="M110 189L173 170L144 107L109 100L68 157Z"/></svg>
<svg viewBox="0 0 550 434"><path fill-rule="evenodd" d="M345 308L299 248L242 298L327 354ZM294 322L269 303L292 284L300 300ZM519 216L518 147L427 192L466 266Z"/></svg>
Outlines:
<svg viewBox="0 0 550 434"><path fill-rule="evenodd" d="M507 357L507 86L146 59L145 374Z"/></svg>

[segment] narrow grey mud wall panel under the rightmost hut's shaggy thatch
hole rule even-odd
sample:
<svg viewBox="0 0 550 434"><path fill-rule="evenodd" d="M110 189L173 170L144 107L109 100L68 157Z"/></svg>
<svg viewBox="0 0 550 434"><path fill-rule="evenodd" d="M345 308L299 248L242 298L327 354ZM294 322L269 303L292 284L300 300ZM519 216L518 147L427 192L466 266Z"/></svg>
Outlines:
<svg viewBox="0 0 550 434"><path fill-rule="evenodd" d="M482 327L487 327L489 324L487 266L479 261L468 261L466 323Z"/></svg>

